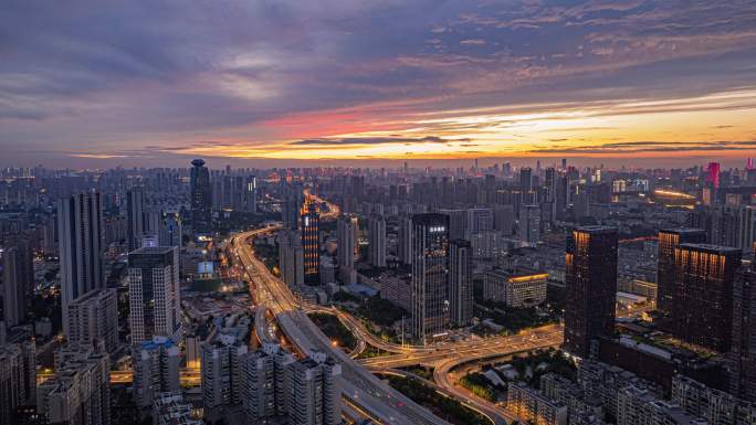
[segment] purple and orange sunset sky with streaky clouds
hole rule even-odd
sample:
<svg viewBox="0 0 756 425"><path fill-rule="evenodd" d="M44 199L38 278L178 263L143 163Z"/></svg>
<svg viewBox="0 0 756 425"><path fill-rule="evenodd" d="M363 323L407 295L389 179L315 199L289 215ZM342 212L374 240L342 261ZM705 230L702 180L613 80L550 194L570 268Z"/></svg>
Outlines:
<svg viewBox="0 0 756 425"><path fill-rule="evenodd" d="M6 0L0 166L756 157L756 1Z"/></svg>

